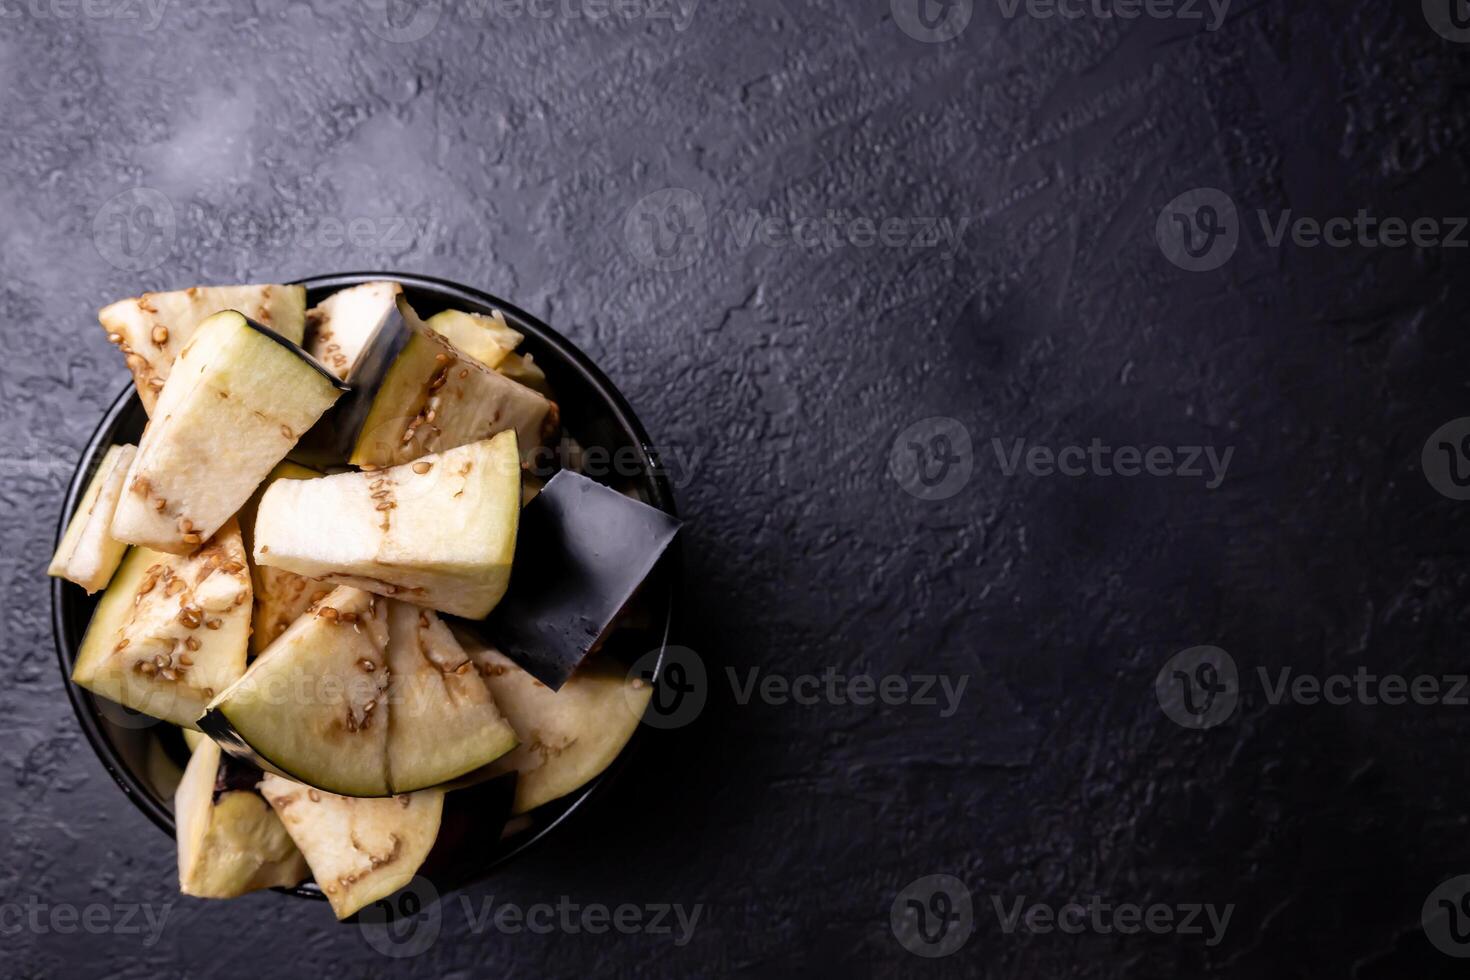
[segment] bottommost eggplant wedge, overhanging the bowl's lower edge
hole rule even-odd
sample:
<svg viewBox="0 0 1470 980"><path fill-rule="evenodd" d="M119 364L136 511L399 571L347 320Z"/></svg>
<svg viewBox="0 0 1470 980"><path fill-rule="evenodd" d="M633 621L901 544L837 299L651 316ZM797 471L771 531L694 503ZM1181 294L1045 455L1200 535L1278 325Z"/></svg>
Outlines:
<svg viewBox="0 0 1470 980"><path fill-rule="evenodd" d="M266 798L337 918L392 895L413 880L434 849L444 790L357 799L337 796L268 773Z"/></svg>

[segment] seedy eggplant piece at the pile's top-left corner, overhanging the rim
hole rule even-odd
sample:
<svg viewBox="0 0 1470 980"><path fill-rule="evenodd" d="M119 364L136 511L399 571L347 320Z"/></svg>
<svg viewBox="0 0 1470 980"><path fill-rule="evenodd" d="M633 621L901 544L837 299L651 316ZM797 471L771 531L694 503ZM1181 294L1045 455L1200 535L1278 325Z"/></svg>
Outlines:
<svg viewBox="0 0 1470 980"><path fill-rule="evenodd" d="M126 356L138 398L150 416L173 360L204 317L220 310L240 310L293 344L300 344L306 329L306 288L245 285L144 292L97 313L107 339Z"/></svg>

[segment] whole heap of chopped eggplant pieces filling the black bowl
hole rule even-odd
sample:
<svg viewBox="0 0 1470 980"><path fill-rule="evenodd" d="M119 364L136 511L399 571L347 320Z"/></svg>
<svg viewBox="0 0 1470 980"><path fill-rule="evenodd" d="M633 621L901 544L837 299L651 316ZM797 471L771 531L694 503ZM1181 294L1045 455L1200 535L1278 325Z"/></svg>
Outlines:
<svg viewBox="0 0 1470 980"><path fill-rule="evenodd" d="M679 522L528 475L559 407L503 313L425 322L382 281L310 311L301 287L244 285L98 319L150 422L101 458L49 573L106 589L72 680L182 727L187 767L168 739L144 767L184 893L310 876L348 918L416 874L457 887L513 815L617 758L653 689L588 654L629 636Z"/></svg>

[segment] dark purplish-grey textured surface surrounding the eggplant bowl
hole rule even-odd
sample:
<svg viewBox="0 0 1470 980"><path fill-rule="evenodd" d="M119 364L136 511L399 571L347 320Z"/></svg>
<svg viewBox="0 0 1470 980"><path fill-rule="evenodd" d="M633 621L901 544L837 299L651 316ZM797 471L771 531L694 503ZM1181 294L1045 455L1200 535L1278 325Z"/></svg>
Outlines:
<svg viewBox="0 0 1470 980"><path fill-rule="evenodd" d="M1152 689L1200 644L1242 674L1466 669L1466 504L1419 461L1470 414L1466 251L1272 248L1252 220L1191 273L1154 241L1197 187L1247 215L1467 213L1470 46L1417 0L1238 3L1216 32L978 0L948 43L886 0L457 10L403 43L363 3L129 10L0 3L0 905L172 905L154 946L0 920L6 974L1451 976L1420 907L1470 873L1466 708L1272 705L1247 680L1192 732ZM141 272L106 257L138 187L173 209ZM709 217L681 269L628 223L670 187ZM969 225L958 248L742 247L750 209ZM322 225L351 219L375 231ZM44 567L125 379L96 309L362 267L514 300L700 454L679 501L709 707L469 892L703 904L685 946L472 934L450 899L428 952L388 959L322 905L178 899L172 843L76 729ZM942 501L888 467L932 416L975 445ZM1235 455L1214 491L1007 478L994 438ZM951 718L741 705L726 666L970 683ZM928 961L889 908L936 873L976 924ZM1214 948L1005 934L991 908L1091 895L1236 908Z"/></svg>

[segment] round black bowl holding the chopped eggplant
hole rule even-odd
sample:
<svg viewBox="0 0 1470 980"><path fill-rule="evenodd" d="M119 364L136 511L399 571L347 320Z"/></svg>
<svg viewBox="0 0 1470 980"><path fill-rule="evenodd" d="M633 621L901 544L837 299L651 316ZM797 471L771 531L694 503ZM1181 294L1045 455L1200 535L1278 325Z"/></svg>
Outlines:
<svg viewBox="0 0 1470 980"><path fill-rule="evenodd" d="M429 276L351 272L301 279L300 285L306 287L307 306L310 307L337 289L379 279L403 284L409 303L423 317L447 309L472 313L500 310L504 313L506 320L525 334L526 341L522 350L535 359L556 391L557 404L562 408L563 430L575 436L582 447L604 448L609 458L628 460L631 451L632 458L637 460L637 466L619 466L616 472L588 473L588 476L629 492L670 514L675 513L673 489L657 463L647 432L634 416L628 401L582 351L537 317L488 292ZM62 520L56 532L57 542L60 542L66 523L107 447L119 442L137 442L146 422L143 404L129 383L103 416L101 425L82 453L66 494L66 504L62 508ZM634 642L610 644L610 649L614 651L619 648L638 649L639 646L641 651L657 649L660 655L656 679L663 666L663 651L673 629L678 564L679 555L678 547L675 547L669 550L639 594L641 608L637 611L637 619L641 620L642 626L629 638ZM66 679L66 693L76 711L76 720L81 721L82 732L87 733L87 741L91 742L97 758L101 760L103 768L112 774L132 805L172 837L173 789L171 780L176 782L187 760L187 749L178 730L171 724L128 711L104 698L96 698L71 683L72 664L76 661L82 635L87 632L87 623L91 620L100 595L88 597L81 588L62 579L51 583L51 624L56 635L56 655L60 661L62 676ZM498 848L481 865L484 871L488 873L503 865L562 824L573 810L591 798L598 786L616 774L637 741L634 738L617 761L591 783L535 810L529 814L529 820L507 827ZM325 898L310 883L282 890Z"/></svg>

